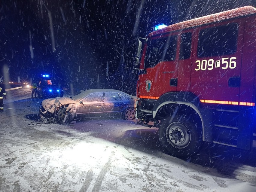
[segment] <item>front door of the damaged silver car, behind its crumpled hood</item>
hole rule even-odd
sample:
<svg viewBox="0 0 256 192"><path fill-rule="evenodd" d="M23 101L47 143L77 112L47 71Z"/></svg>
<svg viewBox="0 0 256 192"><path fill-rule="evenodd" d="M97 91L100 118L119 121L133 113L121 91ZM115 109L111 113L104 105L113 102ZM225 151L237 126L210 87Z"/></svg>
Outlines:
<svg viewBox="0 0 256 192"><path fill-rule="evenodd" d="M77 118L101 117L103 108L103 92L92 93L80 101Z"/></svg>

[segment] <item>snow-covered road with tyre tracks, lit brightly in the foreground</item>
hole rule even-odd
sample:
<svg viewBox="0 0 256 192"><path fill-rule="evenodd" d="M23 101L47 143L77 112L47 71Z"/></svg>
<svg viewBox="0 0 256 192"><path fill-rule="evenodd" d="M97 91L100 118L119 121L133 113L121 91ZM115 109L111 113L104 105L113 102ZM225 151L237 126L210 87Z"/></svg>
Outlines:
<svg viewBox="0 0 256 192"><path fill-rule="evenodd" d="M229 150L230 158L216 154L210 165L202 151L186 162L163 151L157 128L136 121L41 124L42 99L30 96L26 88L8 91L0 114L1 192L256 191L255 154Z"/></svg>

